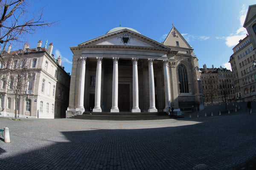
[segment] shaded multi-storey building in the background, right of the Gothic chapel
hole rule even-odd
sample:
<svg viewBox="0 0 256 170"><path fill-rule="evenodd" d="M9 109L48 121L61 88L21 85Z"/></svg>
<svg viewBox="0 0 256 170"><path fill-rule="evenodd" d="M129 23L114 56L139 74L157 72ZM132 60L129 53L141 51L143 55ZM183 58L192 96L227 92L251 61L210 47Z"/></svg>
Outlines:
<svg viewBox="0 0 256 170"><path fill-rule="evenodd" d="M204 105L232 102L235 99L233 72L227 68L207 68L204 64L201 80L204 89Z"/></svg>

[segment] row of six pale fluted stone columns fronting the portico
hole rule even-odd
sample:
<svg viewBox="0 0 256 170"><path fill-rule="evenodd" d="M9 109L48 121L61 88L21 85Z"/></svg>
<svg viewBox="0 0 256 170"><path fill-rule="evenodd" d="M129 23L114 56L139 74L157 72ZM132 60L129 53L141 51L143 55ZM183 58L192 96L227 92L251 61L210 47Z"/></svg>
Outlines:
<svg viewBox="0 0 256 170"><path fill-rule="evenodd" d="M79 79L79 98L78 108L84 109L84 77L85 77L85 64L87 57L81 58L81 69ZM95 106L93 112L101 112L100 100L101 100L101 72L102 72L102 59L103 57L96 57L96 85L95 85ZM111 112L119 112L118 108L118 59L119 57L113 57L113 84L112 84L112 107ZM132 58L133 63L133 107L131 112L140 112L139 108L139 82L138 82L138 58ZM148 112L157 112L155 107L155 90L154 90L154 59L148 59L148 80L149 80L149 108ZM168 71L168 60L163 60L163 72L164 72L164 86L165 86L165 108L168 110L171 102L171 90L170 79Z"/></svg>

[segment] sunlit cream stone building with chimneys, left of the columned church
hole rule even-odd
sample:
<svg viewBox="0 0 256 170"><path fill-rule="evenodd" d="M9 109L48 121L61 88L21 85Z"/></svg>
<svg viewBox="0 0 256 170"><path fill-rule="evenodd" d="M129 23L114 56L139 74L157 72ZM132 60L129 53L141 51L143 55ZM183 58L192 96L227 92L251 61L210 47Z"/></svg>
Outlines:
<svg viewBox="0 0 256 170"><path fill-rule="evenodd" d="M23 49L3 51L0 62L1 116L61 118L68 106L70 75L61 66L61 58L48 49L25 44Z"/></svg>

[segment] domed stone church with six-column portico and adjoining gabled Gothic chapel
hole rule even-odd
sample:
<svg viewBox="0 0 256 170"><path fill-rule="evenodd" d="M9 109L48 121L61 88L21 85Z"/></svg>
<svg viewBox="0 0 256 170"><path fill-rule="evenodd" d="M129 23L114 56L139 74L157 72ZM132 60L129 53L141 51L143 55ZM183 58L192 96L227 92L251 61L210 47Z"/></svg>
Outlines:
<svg viewBox="0 0 256 170"><path fill-rule="evenodd" d="M204 108L198 59L175 27L162 43L117 27L70 47L67 117L93 112Z"/></svg>

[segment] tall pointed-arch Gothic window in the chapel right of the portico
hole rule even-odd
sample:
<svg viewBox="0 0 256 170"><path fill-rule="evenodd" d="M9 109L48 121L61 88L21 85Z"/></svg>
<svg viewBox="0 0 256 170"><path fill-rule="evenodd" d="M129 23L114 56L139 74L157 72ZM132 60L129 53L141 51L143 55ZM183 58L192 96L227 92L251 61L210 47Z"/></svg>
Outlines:
<svg viewBox="0 0 256 170"><path fill-rule="evenodd" d="M179 75L179 82L180 82L180 93L189 93L188 74L187 74L185 65L183 64L179 65L178 75Z"/></svg>

